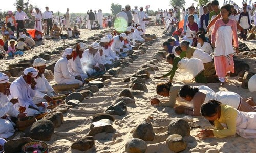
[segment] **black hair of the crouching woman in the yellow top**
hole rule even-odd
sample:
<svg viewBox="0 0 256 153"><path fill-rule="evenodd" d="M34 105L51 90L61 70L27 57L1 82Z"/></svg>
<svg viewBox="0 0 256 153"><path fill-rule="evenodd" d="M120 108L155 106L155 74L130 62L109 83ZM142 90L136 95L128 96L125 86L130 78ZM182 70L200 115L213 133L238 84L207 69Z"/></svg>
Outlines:
<svg viewBox="0 0 256 153"><path fill-rule="evenodd" d="M208 102L201 105L201 115L202 116L212 116L217 113L218 107L220 107L221 102L214 99L209 100ZM210 121L210 124L214 126L214 121Z"/></svg>

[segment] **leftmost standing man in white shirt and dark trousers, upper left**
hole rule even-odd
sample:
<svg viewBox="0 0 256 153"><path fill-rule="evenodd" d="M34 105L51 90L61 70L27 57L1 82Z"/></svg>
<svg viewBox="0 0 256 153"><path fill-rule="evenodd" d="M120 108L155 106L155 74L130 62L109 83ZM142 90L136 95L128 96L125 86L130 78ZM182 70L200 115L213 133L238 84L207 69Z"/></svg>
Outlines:
<svg viewBox="0 0 256 153"><path fill-rule="evenodd" d="M22 11L22 7L18 6L17 7L17 12L15 15L16 23L17 23L17 38L19 37L19 29L24 28L25 20L28 18L27 14Z"/></svg>

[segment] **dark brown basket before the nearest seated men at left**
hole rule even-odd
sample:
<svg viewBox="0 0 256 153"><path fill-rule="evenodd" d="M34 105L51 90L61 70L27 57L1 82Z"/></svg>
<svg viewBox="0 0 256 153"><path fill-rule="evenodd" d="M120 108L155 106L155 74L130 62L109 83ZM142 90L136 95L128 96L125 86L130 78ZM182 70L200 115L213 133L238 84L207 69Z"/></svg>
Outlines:
<svg viewBox="0 0 256 153"><path fill-rule="evenodd" d="M34 116L27 116L25 118L21 118L17 120L17 128L20 131L24 131L27 127L36 122L36 118Z"/></svg>

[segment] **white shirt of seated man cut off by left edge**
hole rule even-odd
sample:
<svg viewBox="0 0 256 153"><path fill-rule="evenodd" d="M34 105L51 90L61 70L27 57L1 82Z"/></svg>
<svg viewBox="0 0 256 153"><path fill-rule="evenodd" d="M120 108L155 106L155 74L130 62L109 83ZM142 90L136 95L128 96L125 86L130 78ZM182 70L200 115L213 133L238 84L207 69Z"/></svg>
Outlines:
<svg viewBox="0 0 256 153"><path fill-rule="evenodd" d="M7 95L0 93L0 117L6 114L12 117L18 117L19 112L14 109L13 104L9 101Z"/></svg>

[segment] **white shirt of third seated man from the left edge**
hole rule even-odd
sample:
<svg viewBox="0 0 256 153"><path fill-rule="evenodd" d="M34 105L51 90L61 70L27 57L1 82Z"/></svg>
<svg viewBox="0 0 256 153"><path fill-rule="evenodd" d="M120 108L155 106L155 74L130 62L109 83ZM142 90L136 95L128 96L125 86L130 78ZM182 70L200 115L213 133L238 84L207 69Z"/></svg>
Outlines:
<svg viewBox="0 0 256 153"><path fill-rule="evenodd" d="M35 82L36 82L35 97L44 98L44 96L47 95L46 92L54 91L52 86L49 84L49 82L45 78L44 74L42 74L42 77L38 76L35 79Z"/></svg>

